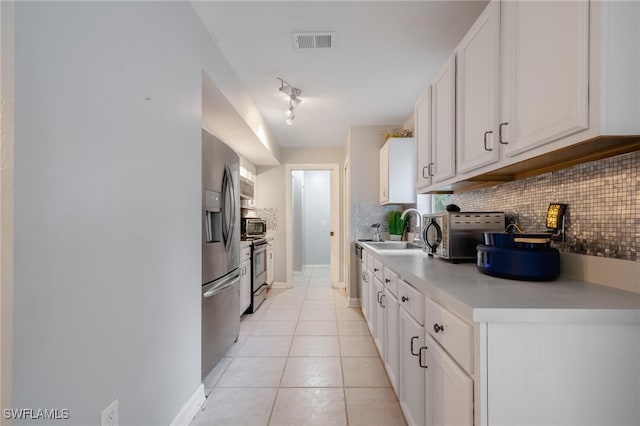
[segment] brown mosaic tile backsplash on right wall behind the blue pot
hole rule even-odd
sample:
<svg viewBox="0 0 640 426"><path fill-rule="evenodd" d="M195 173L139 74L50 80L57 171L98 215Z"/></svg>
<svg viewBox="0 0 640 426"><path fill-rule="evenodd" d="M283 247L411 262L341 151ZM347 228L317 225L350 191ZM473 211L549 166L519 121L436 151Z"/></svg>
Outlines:
<svg viewBox="0 0 640 426"><path fill-rule="evenodd" d="M561 251L640 261L640 152L453 194L462 210L500 210L527 232L546 231L550 203L568 204Z"/></svg>

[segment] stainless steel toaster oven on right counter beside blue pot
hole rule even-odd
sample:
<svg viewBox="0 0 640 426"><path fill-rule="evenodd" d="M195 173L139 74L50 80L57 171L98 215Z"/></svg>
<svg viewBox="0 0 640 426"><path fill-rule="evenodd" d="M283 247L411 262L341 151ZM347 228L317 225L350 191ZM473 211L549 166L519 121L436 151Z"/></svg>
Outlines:
<svg viewBox="0 0 640 426"><path fill-rule="evenodd" d="M458 262L476 259L482 233L504 231L504 212L442 212L422 217L424 251Z"/></svg>

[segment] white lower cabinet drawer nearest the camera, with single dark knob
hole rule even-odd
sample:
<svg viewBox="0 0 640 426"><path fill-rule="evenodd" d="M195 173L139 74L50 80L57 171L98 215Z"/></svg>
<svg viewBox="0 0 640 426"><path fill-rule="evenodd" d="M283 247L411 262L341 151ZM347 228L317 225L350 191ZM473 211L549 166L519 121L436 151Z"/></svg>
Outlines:
<svg viewBox="0 0 640 426"><path fill-rule="evenodd" d="M467 372L473 372L473 326L425 299L425 329Z"/></svg>

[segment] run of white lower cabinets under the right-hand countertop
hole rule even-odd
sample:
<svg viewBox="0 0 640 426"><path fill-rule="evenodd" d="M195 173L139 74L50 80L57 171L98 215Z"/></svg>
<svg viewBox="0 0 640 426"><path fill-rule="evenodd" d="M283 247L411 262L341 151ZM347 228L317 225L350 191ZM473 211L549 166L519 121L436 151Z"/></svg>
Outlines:
<svg viewBox="0 0 640 426"><path fill-rule="evenodd" d="M640 424L637 320L470 322L365 258L363 311L409 425Z"/></svg>

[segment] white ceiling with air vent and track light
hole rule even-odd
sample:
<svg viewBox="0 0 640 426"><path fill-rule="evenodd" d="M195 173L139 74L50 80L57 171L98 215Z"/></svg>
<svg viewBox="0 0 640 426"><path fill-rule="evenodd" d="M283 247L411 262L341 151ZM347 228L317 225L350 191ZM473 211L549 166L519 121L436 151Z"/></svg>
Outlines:
<svg viewBox="0 0 640 426"><path fill-rule="evenodd" d="M281 147L337 147L352 125L405 123L487 1L193 4ZM297 31L335 47L296 50ZM291 126L276 77L302 90Z"/></svg>

